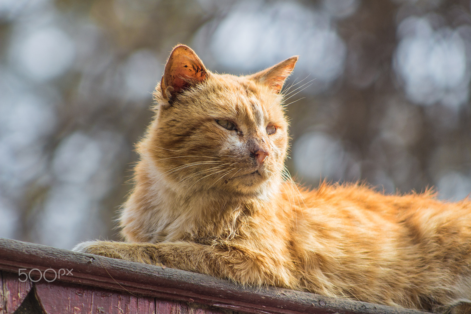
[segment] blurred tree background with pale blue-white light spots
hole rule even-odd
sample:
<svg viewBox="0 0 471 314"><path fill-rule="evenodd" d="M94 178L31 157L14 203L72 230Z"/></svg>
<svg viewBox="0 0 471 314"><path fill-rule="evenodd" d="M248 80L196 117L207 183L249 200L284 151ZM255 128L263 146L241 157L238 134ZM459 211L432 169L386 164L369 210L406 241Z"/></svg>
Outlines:
<svg viewBox="0 0 471 314"><path fill-rule="evenodd" d="M0 0L1 237L118 239L177 43L219 73L300 55L285 89L298 182L470 193L469 0Z"/></svg>

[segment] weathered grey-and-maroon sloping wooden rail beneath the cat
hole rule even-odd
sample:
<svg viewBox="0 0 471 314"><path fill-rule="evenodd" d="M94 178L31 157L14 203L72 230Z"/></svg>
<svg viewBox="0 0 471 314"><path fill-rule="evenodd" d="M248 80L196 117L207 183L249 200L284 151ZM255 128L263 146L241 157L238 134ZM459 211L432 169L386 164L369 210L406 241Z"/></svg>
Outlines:
<svg viewBox="0 0 471 314"><path fill-rule="evenodd" d="M57 281L130 291L247 313L419 314L420 311L279 289L250 289L211 276L0 238L0 270L73 269ZM50 273L50 272L49 272ZM46 276L51 280L51 275ZM48 277L49 276L49 277ZM192 301L190 301L190 299Z"/></svg>

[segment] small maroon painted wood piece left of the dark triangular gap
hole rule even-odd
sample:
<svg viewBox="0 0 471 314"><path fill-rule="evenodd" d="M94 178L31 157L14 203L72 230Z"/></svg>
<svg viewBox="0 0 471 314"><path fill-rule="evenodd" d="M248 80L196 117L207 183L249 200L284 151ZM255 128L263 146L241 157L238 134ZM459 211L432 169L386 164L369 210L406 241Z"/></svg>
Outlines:
<svg viewBox="0 0 471 314"><path fill-rule="evenodd" d="M0 314L12 314L30 292L32 282L19 281L18 274L0 272ZM21 277L24 280L24 275Z"/></svg>

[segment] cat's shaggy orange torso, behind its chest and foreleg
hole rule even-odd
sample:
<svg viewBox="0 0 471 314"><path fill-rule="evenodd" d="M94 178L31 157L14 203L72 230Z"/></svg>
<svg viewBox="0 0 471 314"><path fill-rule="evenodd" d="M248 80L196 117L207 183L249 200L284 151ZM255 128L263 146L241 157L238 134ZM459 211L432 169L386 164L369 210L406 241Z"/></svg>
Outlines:
<svg viewBox="0 0 471 314"><path fill-rule="evenodd" d="M282 190L285 204L292 202L284 213L293 217L293 259L307 274L303 284L317 287L306 289L416 308L423 300L398 298L394 291L433 294L443 303L471 295L471 252L463 245L471 243L468 199L440 202L430 192L384 195L357 184Z"/></svg>

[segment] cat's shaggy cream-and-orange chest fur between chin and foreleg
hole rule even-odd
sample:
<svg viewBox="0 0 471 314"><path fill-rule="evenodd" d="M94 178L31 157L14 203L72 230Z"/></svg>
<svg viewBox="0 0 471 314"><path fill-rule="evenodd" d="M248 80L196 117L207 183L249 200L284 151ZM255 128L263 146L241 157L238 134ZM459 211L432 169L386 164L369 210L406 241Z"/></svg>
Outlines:
<svg viewBox="0 0 471 314"><path fill-rule="evenodd" d="M173 190L162 182L160 172L142 175L140 180L121 217L122 232L128 240L189 240L209 245L225 240L248 241L252 238L249 233L260 229L260 223L269 225L280 219L276 217L278 204L267 195L250 200L220 190ZM273 209L269 216L267 208Z"/></svg>

